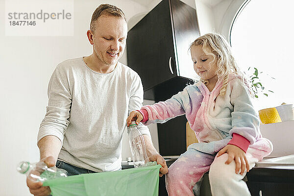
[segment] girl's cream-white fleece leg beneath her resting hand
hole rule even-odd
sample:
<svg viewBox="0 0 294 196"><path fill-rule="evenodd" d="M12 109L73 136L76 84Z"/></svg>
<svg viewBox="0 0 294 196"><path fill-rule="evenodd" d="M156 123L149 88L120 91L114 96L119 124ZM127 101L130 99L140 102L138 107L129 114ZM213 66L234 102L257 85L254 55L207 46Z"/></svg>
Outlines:
<svg viewBox="0 0 294 196"><path fill-rule="evenodd" d="M250 153L246 153L246 158L251 170L257 158L253 158ZM248 187L242 179L246 175L246 171L243 175L236 174L236 163L233 160L229 165L225 162L228 159L228 154L224 153L220 157L215 157L215 160L210 166L209 181L211 187L211 193L213 196L250 196Z"/></svg>

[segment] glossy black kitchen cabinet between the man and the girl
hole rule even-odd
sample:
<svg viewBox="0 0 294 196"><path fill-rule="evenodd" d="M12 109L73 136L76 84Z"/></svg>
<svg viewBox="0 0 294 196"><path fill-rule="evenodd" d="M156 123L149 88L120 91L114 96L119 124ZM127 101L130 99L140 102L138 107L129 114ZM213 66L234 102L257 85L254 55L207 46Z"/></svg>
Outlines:
<svg viewBox="0 0 294 196"><path fill-rule="evenodd" d="M189 53L199 37L196 10L179 0L162 0L128 32L127 64L141 77L144 98L165 101L196 76ZM161 155L186 151L186 117L157 124Z"/></svg>

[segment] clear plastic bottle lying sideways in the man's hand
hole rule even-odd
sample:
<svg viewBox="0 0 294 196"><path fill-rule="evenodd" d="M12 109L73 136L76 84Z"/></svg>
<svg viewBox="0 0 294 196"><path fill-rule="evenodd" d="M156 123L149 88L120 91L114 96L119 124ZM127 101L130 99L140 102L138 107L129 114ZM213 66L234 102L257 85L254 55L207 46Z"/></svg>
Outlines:
<svg viewBox="0 0 294 196"><path fill-rule="evenodd" d="M46 163L29 163L22 161L17 166L17 171L27 175L33 181L45 181L57 177L67 177L67 171L58 169L55 166L48 168Z"/></svg>

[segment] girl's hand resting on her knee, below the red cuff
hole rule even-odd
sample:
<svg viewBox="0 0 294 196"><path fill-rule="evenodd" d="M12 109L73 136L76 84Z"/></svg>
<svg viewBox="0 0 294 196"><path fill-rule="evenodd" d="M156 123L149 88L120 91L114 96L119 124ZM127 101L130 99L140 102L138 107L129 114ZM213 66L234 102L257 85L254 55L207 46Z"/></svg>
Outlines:
<svg viewBox="0 0 294 196"><path fill-rule="evenodd" d="M249 172L249 164L247 162L246 153L240 147L228 144L226 147L222 148L219 151L217 157L221 156L223 153L228 153L229 155L229 158L225 162L225 164L230 164L233 160L235 160L237 174L240 169L241 175L243 174L243 172L245 172L245 169L247 169L247 172Z"/></svg>

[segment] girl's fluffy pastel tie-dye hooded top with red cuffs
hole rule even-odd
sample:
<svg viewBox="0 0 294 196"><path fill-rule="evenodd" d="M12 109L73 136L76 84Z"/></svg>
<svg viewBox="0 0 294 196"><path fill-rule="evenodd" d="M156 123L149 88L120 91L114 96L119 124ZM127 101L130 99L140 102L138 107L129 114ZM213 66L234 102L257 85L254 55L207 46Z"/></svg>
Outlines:
<svg viewBox="0 0 294 196"><path fill-rule="evenodd" d="M193 146L197 150L213 154L232 144L245 152L249 147L250 153L261 160L270 154L272 144L262 138L260 121L244 82L231 75L223 96L219 96L221 87L222 82L218 81L209 92L199 81L166 101L145 105L140 110L142 123L165 123L186 114L199 141Z"/></svg>

